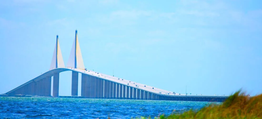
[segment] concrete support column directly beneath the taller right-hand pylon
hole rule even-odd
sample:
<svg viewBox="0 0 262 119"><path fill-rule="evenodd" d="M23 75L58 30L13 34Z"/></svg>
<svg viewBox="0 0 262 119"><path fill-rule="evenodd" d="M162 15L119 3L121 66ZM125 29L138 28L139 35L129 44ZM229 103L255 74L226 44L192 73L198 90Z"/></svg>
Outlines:
<svg viewBox="0 0 262 119"><path fill-rule="evenodd" d="M75 72L75 71L72 71L71 95L72 96L77 96L78 95L78 72Z"/></svg>

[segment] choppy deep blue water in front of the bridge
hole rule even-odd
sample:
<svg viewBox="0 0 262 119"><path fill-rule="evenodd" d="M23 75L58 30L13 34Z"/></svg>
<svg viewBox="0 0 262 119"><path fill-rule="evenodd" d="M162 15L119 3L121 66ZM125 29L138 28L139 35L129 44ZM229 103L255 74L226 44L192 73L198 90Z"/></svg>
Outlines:
<svg viewBox="0 0 262 119"><path fill-rule="evenodd" d="M208 102L0 97L0 118L131 118L155 117L201 109ZM220 103L217 103L220 104Z"/></svg>

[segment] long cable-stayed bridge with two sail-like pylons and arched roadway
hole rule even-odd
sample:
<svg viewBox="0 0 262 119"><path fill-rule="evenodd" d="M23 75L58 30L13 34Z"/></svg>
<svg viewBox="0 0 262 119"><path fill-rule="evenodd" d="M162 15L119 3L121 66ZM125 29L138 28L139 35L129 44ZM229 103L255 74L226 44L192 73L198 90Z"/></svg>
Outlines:
<svg viewBox="0 0 262 119"><path fill-rule="evenodd" d="M135 100L177 100L223 102L227 96L183 95L145 84L87 70L84 66L77 30L67 67L64 65L58 35L49 71L10 90L1 96L51 97L51 77L53 77L52 97L105 98ZM71 96L59 96L59 73L72 71ZM78 96L78 74L81 73L81 96Z"/></svg>

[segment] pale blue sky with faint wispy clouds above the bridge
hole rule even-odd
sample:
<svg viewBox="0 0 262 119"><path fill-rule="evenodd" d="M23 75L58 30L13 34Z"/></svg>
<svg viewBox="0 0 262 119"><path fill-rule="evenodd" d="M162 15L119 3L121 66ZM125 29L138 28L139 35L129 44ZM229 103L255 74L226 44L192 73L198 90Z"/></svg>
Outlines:
<svg viewBox="0 0 262 119"><path fill-rule="evenodd" d="M261 94L261 21L260 0L1 1L0 94L49 70L56 35L66 65L75 29L88 70L181 94Z"/></svg>

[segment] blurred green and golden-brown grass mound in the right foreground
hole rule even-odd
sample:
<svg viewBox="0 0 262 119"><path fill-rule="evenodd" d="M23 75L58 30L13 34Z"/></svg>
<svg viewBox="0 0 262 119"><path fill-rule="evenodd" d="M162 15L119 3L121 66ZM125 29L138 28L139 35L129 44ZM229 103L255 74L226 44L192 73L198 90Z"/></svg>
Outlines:
<svg viewBox="0 0 262 119"><path fill-rule="evenodd" d="M199 111L189 110L183 114L160 115L154 118L262 118L262 94L249 97L239 90L221 105L213 104L205 106Z"/></svg>

